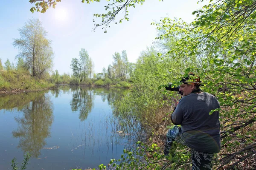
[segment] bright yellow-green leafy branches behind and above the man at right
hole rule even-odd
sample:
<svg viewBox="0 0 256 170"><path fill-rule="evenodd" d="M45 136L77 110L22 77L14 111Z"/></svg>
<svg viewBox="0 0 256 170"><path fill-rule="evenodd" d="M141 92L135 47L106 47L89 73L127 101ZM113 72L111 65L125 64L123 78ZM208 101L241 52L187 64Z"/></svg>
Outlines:
<svg viewBox="0 0 256 170"><path fill-rule="evenodd" d="M197 18L190 25L164 18L159 39L182 36L165 56L175 54L186 59L200 59L187 68L204 80L204 91L214 94L221 105L222 154L215 168L231 169L253 155L248 146L255 138L255 3L220 0L193 12ZM175 59L177 58L175 56ZM178 84L178 82L176 82ZM238 151L239 150L239 151ZM236 162L233 157L240 156Z"/></svg>

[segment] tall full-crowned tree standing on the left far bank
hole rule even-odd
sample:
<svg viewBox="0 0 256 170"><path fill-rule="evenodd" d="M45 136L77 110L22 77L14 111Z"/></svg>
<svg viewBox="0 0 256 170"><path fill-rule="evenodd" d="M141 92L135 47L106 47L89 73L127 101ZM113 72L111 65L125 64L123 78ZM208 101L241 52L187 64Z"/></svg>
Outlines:
<svg viewBox="0 0 256 170"><path fill-rule="evenodd" d="M12 43L20 50L16 58L23 58L26 68L32 69L32 76L40 78L52 68L53 51L51 41L47 40L47 31L44 30L39 19L28 20L20 29L20 39Z"/></svg>

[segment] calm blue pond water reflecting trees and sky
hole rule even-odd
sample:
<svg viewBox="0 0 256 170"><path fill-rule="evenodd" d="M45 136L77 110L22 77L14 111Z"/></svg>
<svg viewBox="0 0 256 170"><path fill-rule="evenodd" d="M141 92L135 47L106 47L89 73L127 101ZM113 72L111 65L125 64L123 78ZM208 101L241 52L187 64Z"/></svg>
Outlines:
<svg viewBox="0 0 256 170"><path fill-rule="evenodd" d="M123 133L112 111L124 92L63 86L0 96L0 170L11 170L14 157L20 167L27 152L27 170L96 168L119 159L137 142L133 133Z"/></svg>

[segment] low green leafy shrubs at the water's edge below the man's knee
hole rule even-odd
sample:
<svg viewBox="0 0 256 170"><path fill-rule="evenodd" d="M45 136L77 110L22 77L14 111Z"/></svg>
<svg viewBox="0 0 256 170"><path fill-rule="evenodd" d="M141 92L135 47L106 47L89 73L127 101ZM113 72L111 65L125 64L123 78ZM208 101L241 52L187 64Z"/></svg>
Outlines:
<svg viewBox="0 0 256 170"><path fill-rule="evenodd" d="M185 146L174 142L172 149L168 156L164 156L161 148L154 143L150 145L143 142L137 142L137 148L132 150L123 150L121 159L111 159L109 162L109 169L116 170L176 170L190 169L188 160L190 153L182 153ZM146 153L146 154L145 154ZM104 169L104 168L102 168Z"/></svg>

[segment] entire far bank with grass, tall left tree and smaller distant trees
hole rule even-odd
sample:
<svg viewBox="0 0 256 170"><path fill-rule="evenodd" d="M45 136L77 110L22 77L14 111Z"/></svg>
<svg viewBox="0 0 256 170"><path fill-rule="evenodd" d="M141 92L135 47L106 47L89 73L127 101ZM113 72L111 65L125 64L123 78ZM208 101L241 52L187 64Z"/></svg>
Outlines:
<svg viewBox="0 0 256 170"><path fill-rule="evenodd" d="M20 38L13 42L19 49L15 57L17 63L6 59L4 64L0 59L0 90L35 90L50 88L55 84L96 85L129 88L135 65L128 62L127 52L113 54L113 63L103 68L101 73L94 72L94 63L88 52L82 48L79 58L73 58L70 63L72 73L59 74L52 71L53 49L52 41L47 39L47 31L39 19L28 20L19 28ZM23 78L21 78L23 77ZM32 82L36 82L32 83Z"/></svg>

